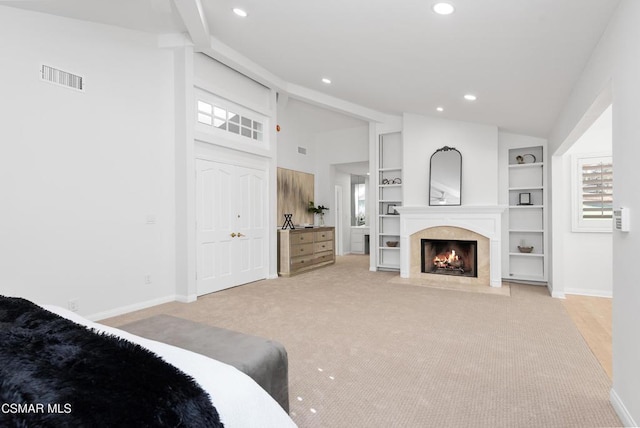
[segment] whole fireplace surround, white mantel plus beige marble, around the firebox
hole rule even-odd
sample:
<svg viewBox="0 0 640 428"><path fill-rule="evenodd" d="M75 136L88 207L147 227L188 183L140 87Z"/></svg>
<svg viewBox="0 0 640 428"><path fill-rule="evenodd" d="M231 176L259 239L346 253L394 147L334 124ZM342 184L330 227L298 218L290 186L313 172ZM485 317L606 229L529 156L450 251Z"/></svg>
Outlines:
<svg viewBox="0 0 640 428"><path fill-rule="evenodd" d="M421 239L475 240L478 241L478 277L437 275L437 280L501 287L504 210L504 207L497 205L398 207L400 276L434 280L436 275L421 272Z"/></svg>

